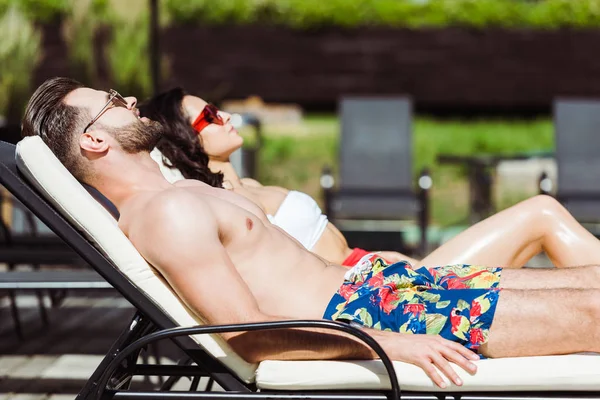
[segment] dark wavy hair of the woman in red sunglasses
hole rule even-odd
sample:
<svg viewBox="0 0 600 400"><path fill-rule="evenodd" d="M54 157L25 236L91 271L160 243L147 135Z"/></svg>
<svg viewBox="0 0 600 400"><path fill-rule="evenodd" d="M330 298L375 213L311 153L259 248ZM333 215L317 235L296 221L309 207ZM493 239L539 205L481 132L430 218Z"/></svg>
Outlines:
<svg viewBox="0 0 600 400"><path fill-rule="evenodd" d="M139 106L142 116L159 121L165 135L156 147L168 159L165 165L177 168L187 179L197 179L214 187L222 187L223 174L208 168L208 155L183 111L182 88L171 89L154 96Z"/></svg>

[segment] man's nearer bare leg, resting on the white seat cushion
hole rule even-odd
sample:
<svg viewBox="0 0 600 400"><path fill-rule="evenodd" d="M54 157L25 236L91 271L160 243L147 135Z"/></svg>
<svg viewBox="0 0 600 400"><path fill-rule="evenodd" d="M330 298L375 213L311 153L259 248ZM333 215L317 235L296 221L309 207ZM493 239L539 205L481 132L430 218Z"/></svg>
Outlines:
<svg viewBox="0 0 600 400"><path fill-rule="evenodd" d="M600 352L600 290L503 290L488 357Z"/></svg>

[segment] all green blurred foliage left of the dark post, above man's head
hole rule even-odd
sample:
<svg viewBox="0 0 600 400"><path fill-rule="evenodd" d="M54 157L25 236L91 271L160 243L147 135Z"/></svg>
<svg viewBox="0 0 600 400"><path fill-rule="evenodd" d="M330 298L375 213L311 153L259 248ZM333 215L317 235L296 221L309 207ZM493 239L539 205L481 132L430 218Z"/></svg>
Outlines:
<svg viewBox="0 0 600 400"><path fill-rule="evenodd" d="M30 94L29 81L43 57L35 28L40 23L61 22L70 76L150 95L148 14L147 0L0 0L0 115L10 113L9 106L21 107L18 99Z"/></svg>

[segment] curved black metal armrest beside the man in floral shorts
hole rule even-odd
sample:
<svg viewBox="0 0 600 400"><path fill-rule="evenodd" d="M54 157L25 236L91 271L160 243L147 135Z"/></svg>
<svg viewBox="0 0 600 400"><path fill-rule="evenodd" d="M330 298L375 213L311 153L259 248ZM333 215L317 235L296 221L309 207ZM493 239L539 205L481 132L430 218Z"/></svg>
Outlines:
<svg viewBox="0 0 600 400"><path fill-rule="evenodd" d="M96 400L102 398L102 393L106 389L106 385L114 371L118 368L128 356L135 351L147 346L148 344L162 340L174 338L177 336L190 336L198 334L212 334L212 333L224 333L224 332L240 332L240 331L258 331L258 330L272 330L272 329L289 329L289 328L324 328L332 329L348 333L352 336L357 337L364 342L370 349L372 349L381 359L383 365L388 373L390 383L392 386L392 392L395 399L400 399L400 384L398 383L398 377L394 370L392 361L387 356L383 348L365 331L353 327L349 324L344 324L334 321L326 320L296 320L296 321L276 321L276 322L255 322L248 324L230 324L230 325L198 325L192 327L179 327L164 329L161 331L150 333L143 338L136 340L129 346L124 348L106 367L101 379L98 382L98 391L96 393Z"/></svg>

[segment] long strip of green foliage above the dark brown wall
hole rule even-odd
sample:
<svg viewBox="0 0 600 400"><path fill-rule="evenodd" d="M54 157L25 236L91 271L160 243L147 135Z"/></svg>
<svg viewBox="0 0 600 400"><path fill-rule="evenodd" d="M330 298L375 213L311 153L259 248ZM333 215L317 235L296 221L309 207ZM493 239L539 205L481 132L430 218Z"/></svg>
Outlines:
<svg viewBox="0 0 600 400"><path fill-rule="evenodd" d="M560 28L600 26L600 0L165 0L180 23Z"/></svg>

